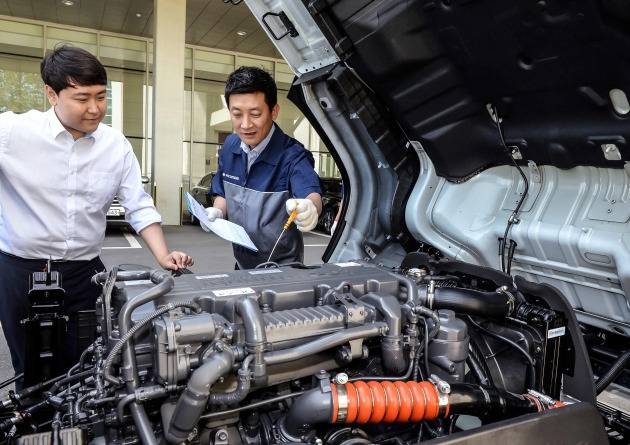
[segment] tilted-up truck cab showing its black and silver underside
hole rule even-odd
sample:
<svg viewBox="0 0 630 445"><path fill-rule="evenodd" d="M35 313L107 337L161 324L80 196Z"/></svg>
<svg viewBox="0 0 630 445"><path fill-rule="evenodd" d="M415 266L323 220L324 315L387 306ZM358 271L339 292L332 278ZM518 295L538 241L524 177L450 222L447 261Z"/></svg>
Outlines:
<svg viewBox="0 0 630 445"><path fill-rule="evenodd" d="M436 250L630 335L627 2L246 3L344 172L333 260Z"/></svg>

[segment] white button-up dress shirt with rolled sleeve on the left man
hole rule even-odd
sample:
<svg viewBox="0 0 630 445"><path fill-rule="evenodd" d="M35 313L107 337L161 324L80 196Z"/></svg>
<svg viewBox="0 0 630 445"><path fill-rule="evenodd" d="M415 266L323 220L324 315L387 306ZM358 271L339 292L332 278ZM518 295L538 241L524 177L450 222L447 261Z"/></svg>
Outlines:
<svg viewBox="0 0 630 445"><path fill-rule="evenodd" d="M53 108L0 114L0 250L30 259L95 258L114 196L136 232L162 221L121 132L100 124L75 141Z"/></svg>

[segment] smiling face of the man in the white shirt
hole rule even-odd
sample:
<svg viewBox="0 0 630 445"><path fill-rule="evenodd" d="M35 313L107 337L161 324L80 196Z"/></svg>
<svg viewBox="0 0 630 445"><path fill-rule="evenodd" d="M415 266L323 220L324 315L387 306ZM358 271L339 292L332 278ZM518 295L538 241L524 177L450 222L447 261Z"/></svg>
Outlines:
<svg viewBox="0 0 630 445"><path fill-rule="evenodd" d="M46 85L46 96L55 114L74 139L96 130L107 111L105 85L73 85L59 92Z"/></svg>

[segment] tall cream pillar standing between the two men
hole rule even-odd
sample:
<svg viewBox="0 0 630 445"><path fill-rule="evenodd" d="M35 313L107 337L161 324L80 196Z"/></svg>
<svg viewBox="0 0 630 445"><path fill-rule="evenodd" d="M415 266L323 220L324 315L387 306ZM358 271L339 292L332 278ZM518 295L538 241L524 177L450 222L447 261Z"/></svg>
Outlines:
<svg viewBox="0 0 630 445"><path fill-rule="evenodd" d="M153 185L163 224L179 225L186 0L154 0Z"/></svg>

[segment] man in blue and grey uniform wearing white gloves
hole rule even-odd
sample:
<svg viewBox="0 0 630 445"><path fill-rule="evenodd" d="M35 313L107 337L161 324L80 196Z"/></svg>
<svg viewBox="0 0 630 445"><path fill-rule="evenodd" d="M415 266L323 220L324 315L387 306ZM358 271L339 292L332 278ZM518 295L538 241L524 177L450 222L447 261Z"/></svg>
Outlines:
<svg viewBox="0 0 630 445"><path fill-rule="evenodd" d="M227 138L219 156L208 219L226 218L243 226L258 248L254 252L233 245L240 269L267 261L302 262L301 232L312 230L322 211L313 155L274 123L280 106L276 83L266 71L255 67L234 71L226 82L225 101L235 134ZM295 224L280 237L293 210Z"/></svg>

